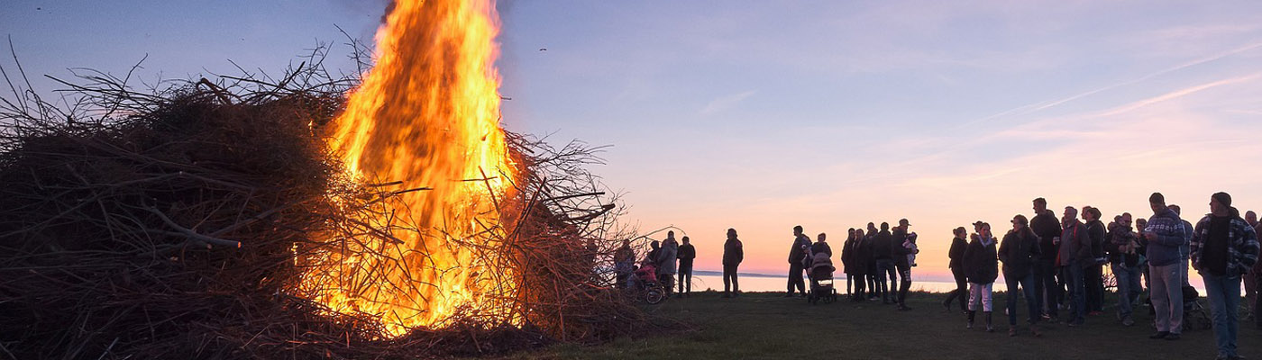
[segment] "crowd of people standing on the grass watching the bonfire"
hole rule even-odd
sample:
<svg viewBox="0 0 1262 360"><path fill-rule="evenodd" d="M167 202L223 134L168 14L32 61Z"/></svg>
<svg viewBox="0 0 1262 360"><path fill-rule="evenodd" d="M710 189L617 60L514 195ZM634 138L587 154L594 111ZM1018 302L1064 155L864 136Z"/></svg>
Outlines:
<svg viewBox="0 0 1262 360"><path fill-rule="evenodd" d="M1262 329L1262 315L1256 313L1262 302L1257 296L1262 288L1257 238L1262 224L1257 214L1247 211L1242 217L1225 193L1210 196L1210 213L1195 224L1184 220L1181 209L1167 205L1160 193L1153 193L1148 203L1152 215L1147 219L1123 213L1106 224L1100 209L1094 206L1065 206L1058 219L1047 201L1039 198L1032 201L1034 217L1012 217L1011 229L1003 237L996 237L986 222L973 223L972 233L964 227L955 228L948 267L957 288L945 295L943 307L954 311L953 305L958 303L967 315L968 329L974 327L981 311L984 330L993 332L993 286L1002 273L1008 335L1017 336L1018 315L1023 312L1030 334L1041 336L1041 322L1076 327L1089 316L1104 313L1104 267L1109 267L1116 279L1117 321L1133 326L1136 307L1147 302L1156 329L1150 337L1174 341L1181 339L1184 329L1185 293L1196 296L1188 278L1190 266L1205 283L1219 359L1239 359L1235 344L1242 282L1248 317ZM919 247L910 225L901 219L892 229L888 223L881 223L880 228L868 223L866 229L848 230L840 262L852 301L880 300L900 311L911 310L906 298ZM618 283L634 278L630 276L634 271L649 268L668 290L674 288L671 283L678 274L675 296L688 296L695 257L688 237L680 245L671 232L660 244L651 243L651 250L636 269L630 243L623 243L615 256ZM803 227L794 227L785 297L806 296L804 273L811 264L832 268L832 257L825 234L811 242ZM737 269L743 258L736 230L728 229L723 244L723 297L740 296ZM1017 308L1021 298L1026 303L1023 310Z"/></svg>

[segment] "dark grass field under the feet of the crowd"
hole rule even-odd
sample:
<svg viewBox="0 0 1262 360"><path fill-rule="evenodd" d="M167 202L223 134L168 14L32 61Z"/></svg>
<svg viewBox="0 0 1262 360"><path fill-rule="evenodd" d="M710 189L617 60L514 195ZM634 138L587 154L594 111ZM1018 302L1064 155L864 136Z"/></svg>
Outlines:
<svg viewBox="0 0 1262 360"><path fill-rule="evenodd" d="M1136 308L1136 325L1117 321L1113 306L1088 316L1087 325L1041 323L1034 337L1018 308L1017 337L1008 337L1003 293L996 293L994 332L964 329L959 310L945 311L944 295L909 296L911 311L880 301L808 305L782 293L746 293L721 298L694 293L647 307L660 316L692 323L695 331L622 339L596 346L559 345L504 359L1214 359L1212 330L1184 331L1182 340L1150 340L1152 317ZM1112 300L1107 300L1112 301ZM1023 305L1021 305L1023 306ZM1239 354L1262 359L1262 330L1242 322Z"/></svg>

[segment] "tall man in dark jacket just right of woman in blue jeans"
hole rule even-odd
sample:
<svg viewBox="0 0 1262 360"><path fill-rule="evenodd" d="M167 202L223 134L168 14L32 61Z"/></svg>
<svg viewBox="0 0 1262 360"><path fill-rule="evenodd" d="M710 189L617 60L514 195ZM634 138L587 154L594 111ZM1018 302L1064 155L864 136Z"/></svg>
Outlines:
<svg viewBox="0 0 1262 360"><path fill-rule="evenodd" d="M1039 235L1039 252L1044 254L1034 268L1035 301L1049 321L1058 321L1056 306L1060 305L1060 287L1056 286L1056 254L1060 252L1060 222L1047 210L1047 200L1034 199L1034 218L1030 229Z"/></svg>

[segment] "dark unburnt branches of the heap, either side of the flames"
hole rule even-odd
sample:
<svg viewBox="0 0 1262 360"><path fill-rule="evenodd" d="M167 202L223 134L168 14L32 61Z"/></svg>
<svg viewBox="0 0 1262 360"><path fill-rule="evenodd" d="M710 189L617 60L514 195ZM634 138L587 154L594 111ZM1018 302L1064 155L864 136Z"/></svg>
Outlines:
<svg viewBox="0 0 1262 360"><path fill-rule="evenodd" d="M339 245L317 234L398 230L343 225L400 190L347 179L327 149L322 128L356 82L329 76L323 54L275 79L145 91L87 72L63 82L69 103L57 106L6 73L0 357L414 359L603 341L651 322L608 288L631 234L584 167L599 149L516 135L526 175L505 205L512 230L481 250L511 254L520 326L467 316L386 339L379 318L308 300L297 259Z"/></svg>

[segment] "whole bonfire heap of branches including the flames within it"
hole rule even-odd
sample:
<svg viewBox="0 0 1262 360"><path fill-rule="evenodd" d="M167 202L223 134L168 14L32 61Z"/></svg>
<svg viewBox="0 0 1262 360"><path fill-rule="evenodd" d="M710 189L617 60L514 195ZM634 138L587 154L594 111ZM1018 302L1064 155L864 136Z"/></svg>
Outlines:
<svg viewBox="0 0 1262 360"><path fill-rule="evenodd" d="M391 21L429 10L404 3ZM437 115L363 108L380 79L333 77L324 54L276 79L150 91L86 73L64 82L74 106L14 88L0 108L0 356L414 359L647 325L608 288L631 235L584 167L598 147L453 128L464 116L447 111L464 106L443 93L458 83L413 89L430 93L419 102L385 88ZM435 123L382 122L400 118ZM390 126L404 136L374 131ZM492 161L461 147L493 133ZM429 157L449 147L459 166Z"/></svg>

